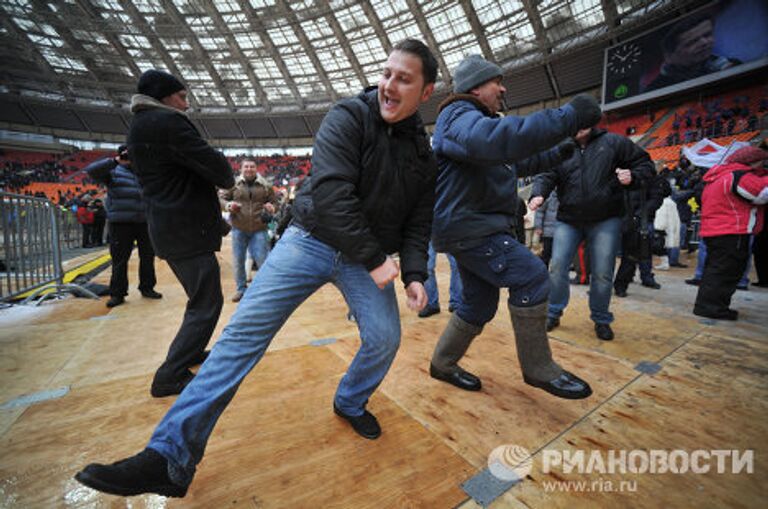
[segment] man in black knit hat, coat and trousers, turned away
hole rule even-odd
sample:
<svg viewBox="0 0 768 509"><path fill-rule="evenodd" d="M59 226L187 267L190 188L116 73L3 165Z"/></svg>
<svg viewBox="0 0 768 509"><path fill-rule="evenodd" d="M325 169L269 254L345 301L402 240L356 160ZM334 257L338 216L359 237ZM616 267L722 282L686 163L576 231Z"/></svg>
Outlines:
<svg viewBox="0 0 768 509"><path fill-rule="evenodd" d="M187 91L174 76L141 75L128 152L146 203L149 236L187 294L184 321L155 373L154 397L179 394L205 359L224 297L216 251L227 230L216 186L235 185L232 168L187 118Z"/></svg>

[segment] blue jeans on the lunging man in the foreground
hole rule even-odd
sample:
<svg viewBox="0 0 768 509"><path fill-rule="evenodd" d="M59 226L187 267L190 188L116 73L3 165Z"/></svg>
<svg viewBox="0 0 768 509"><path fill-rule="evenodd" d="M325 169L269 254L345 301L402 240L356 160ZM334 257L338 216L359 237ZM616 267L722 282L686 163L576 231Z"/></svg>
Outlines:
<svg viewBox="0 0 768 509"><path fill-rule="evenodd" d="M325 283L341 291L362 341L334 402L345 414L362 415L400 345L394 284L380 290L363 265L290 226L256 273L210 356L152 435L148 447L168 459L174 483L192 481L208 437L240 383L291 313Z"/></svg>

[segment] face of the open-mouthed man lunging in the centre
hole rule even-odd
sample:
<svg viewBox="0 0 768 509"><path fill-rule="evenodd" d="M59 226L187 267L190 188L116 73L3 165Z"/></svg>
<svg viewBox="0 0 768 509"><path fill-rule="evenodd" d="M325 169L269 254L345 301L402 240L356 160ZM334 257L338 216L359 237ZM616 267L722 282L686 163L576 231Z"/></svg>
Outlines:
<svg viewBox="0 0 768 509"><path fill-rule="evenodd" d="M389 54L379 79L379 111L384 122L394 124L410 117L432 95L435 84L424 83L421 67L416 55L398 50Z"/></svg>

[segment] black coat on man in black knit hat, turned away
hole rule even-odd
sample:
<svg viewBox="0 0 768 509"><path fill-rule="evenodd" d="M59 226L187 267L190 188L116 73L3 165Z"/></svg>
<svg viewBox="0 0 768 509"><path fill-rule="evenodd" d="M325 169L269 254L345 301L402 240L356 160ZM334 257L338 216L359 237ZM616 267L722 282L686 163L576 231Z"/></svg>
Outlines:
<svg viewBox="0 0 768 509"><path fill-rule="evenodd" d="M131 111L128 154L155 253L181 259L218 251L225 223L216 186L235 185L226 158L180 111L144 95L133 96Z"/></svg>

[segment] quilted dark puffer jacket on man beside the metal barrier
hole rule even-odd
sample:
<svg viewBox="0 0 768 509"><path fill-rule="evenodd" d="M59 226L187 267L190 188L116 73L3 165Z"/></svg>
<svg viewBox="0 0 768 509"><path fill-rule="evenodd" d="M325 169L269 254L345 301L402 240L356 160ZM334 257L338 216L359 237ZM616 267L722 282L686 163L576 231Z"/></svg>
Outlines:
<svg viewBox="0 0 768 509"><path fill-rule="evenodd" d="M93 180L107 186L107 219L110 223L146 223L141 186L133 172L112 157L85 167Z"/></svg>

